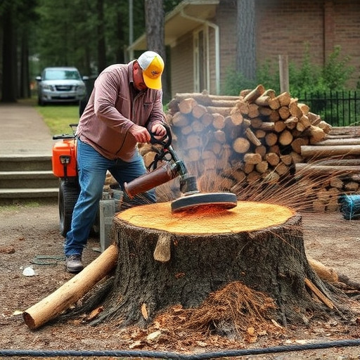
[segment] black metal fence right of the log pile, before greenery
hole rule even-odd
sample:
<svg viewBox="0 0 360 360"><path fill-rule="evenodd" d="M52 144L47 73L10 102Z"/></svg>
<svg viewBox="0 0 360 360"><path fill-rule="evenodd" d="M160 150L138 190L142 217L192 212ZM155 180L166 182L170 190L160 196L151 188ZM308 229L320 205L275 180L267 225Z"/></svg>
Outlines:
<svg viewBox="0 0 360 360"><path fill-rule="evenodd" d="M360 91L305 92L298 98L333 127L360 125Z"/></svg>

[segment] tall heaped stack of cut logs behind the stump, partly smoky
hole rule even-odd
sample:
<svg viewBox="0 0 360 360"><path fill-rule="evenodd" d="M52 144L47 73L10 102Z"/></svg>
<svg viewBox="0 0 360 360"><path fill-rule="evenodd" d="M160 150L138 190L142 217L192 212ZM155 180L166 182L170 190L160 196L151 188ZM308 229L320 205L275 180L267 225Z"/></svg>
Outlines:
<svg viewBox="0 0 360 360"><path fill-rule="evenodd" d="M169 103L167 122L172 128L173 146L190 172L197 176L201 191L238 194L255 183L280 184L289 177L294 178L295 172L300 179L307 172L306 164L316 161L312 152L315 147L319 148L318 144L330 146L330 156L325 155L329 159L333 158L335 146L326 145L326 141L340 140L330 135L337 131L319 115L311 113L308 105L287 92L277 95L261 84L241 91L239 96L214 96L206 92L176 94ZM343 145L345 150L355 156L359 154L360 143L351 143L349 141L355 140L342 137L342 141L347 141ZM143 151L142 154L148 165L155 152ZM351 171L356 172L356 166L352 163ZM340 170L342 175L349 176L349 167ZM344 176L340 176L340 180L343 179ZM338 193L349 190L349 186L344 182L340 186L338 179L333 183L338 187L321 185L326 196L323 191L319 193L316 184L309 189L315 198L316 211L338 209ZM353 189L354 184L350 184L350 188Z"/></svg>

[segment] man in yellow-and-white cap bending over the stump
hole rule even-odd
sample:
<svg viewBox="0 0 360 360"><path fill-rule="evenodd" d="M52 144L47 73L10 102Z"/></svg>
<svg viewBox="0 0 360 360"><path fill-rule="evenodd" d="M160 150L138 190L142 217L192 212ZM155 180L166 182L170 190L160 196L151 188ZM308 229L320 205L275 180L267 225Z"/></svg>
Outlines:
<svg viewBox="0 0 360 360"><path fill-rule="evenodd" d="M66 269L79 272L82 250L96 219L106 172L120 187L146 172L137 143L150 132L165 136L161 75L164 61L146 51L128 64L110 65L96 79L77 127L79 198L65 240ZM155 191L129 200L132 205L155 203Z"/></svg>

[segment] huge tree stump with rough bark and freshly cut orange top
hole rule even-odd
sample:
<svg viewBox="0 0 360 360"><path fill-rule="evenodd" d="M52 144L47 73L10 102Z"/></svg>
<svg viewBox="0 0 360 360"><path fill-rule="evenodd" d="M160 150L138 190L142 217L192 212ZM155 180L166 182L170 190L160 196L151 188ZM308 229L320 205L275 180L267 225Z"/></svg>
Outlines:
<svg viewBox="0 0 360 360"><path fill-rule="evenodd" d="M199 307L235 281L271 297L283 325L338 311L338 290L307 262L301 220L289 207L247 201L222 212L172 214L169 202L120 212L113 290L99 321L146 326L160 311Z"/></svg>

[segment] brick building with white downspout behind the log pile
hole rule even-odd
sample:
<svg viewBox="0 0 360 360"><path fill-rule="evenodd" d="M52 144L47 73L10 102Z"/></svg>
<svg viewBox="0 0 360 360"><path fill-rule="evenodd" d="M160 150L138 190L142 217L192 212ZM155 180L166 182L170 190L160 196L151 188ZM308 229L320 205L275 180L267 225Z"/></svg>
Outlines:
<svg viewBox="0 0 360 360"><path fill-rule="evenodd" d="M241 0L238 0L241 1ZM334 46L349 56L360 79L359 0L254 0L257 65L287 55L300 64L308 47L311 63L323 65ZM236 60L236 0L184 0L165 17L167 68L172 95L207 89L219 94L228 69ZM130 51L145 50L146 36L136 39Z"/></svg>

